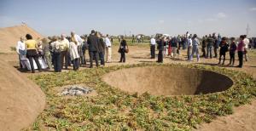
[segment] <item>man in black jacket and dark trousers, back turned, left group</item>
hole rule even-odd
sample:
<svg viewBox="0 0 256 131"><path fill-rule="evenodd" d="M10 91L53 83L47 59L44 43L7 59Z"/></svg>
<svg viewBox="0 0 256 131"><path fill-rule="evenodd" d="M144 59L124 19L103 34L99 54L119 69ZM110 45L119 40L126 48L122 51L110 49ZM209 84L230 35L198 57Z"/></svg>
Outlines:
<svg viewBox="0 0 256 131"><path fill-rule="evenodd" d="M96 61L96 66L99 66L99 38L96 37L96 32L91 31L90 36L88 37L87 43L89 45L89 56L90 56L90 68L93 67L93 59Z"/></svg>

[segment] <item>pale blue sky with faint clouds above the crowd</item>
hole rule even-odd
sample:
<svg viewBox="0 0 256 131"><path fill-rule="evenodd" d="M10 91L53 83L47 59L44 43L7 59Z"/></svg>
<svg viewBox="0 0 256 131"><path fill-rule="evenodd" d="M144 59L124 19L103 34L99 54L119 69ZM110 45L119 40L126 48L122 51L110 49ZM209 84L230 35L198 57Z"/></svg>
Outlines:
<svg viewBox="0 0 256 131"><path fill-rule="evenodd" d="M256 0L0 0L0 27L21 21L44 36L88 34L171 35L186 31L256 37Z"/></svg>

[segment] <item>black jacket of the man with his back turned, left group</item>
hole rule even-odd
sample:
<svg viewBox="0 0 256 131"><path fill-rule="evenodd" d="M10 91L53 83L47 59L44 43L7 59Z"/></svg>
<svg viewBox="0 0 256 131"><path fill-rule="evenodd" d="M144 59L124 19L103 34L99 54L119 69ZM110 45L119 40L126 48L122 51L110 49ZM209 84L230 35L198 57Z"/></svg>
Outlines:
<svg viewBox="0 0 256 131"><path fill-rule="evenodd" d="M99 52L99 38L95 35L91 35L88 37L87 43L89 45L89 51L97 51Z"/></svg>

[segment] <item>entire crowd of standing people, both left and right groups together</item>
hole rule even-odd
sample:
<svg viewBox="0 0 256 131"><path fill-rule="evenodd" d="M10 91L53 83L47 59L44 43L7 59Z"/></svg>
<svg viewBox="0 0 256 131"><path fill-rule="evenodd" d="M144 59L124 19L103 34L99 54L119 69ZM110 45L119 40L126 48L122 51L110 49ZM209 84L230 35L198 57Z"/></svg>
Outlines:
<svg viewBox="0 0 256 131"><path fill-rule="evenodd" d="M94 30L90 32L89 36L79 36L72 31L70 37L61 34L61 37L44 37L37 40L34 40L30 34L26 34L26 38L20 37L16 51L19 54L20 67L33 73L35 69L38 71L54 69L55 72L61 72L62 69L67 70L70 65L73 65L73 70L77 71L80 65L86 65L86 50L90 56L90 68L93 67L93 61L96 62L97 67L104 66L105 62L111 62L112 43L113 37L109 38L108 34L104 36ZM155 59L157 48L159 50L157 62L160 63L168 55L178 59L182 50L186 51L188 61L193 61L194 55L197 61L200 61L201 58L218 58L219 55L218 64L224 65L226 53L229 52L229 65L234 66L237 52L239 59L237 67L242 67L243 58L248 60L247 49L251 48L252 45L252 40L249 40L246 35L241 35L237 41L235 37L221 37L219 34L216 36L215 33L200 39L196 34L192 35L187 32L177 37L151 37L150 53L151 59ZM119 37L118 51L120 54L119 62L125 62L125 54L129 52L129 48L123 36Z"/></svg>

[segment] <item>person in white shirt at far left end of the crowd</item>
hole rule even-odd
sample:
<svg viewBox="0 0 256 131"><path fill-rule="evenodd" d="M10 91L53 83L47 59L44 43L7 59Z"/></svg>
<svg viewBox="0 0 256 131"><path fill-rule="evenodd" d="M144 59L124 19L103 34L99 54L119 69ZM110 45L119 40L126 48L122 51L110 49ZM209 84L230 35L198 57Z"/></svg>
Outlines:
<svg viewBox="0 0 256 131"><path fill-rule="evenodd" d="M25 69L26 65L24 61L22 61L22 60L26 60L26 46L25 46L24 37L20 37L20 41L17 43L17 46L16 46L16 52L17 54L19 54L20 68Z"/></svg>

